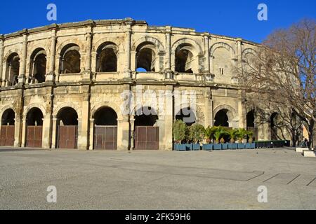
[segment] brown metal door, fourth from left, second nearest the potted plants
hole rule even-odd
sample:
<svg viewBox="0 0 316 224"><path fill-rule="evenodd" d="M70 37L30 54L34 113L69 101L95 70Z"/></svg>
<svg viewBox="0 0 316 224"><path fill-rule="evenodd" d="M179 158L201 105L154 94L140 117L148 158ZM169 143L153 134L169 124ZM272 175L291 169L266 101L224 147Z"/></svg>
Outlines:
<svg viewBox="0 0 316 224"><path fill-rule="evenodd" d="M94 127L94 148L117 150L117 126Z"/></svg>

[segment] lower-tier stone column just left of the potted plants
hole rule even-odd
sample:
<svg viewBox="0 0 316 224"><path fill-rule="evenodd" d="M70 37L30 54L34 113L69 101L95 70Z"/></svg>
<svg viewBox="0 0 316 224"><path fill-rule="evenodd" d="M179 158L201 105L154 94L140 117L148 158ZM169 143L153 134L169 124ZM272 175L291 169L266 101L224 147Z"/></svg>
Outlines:
<svg viewBox="0 0 316 224"><path fill-rule="evenodd" d="M173 150L173 86L166 86L164 104L164 149L167 151ZM178 113L178 112L176 112Z"/></svg>

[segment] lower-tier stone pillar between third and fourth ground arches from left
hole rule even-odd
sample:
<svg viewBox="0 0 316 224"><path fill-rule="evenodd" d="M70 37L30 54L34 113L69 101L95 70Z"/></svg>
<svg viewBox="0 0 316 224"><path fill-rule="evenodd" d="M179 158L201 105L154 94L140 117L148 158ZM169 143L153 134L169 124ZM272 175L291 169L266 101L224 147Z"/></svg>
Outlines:
<svg viewBox="0 0 316 224"><path fill-rule="evenodd" d="M83 86L84 100L81 103L81 125L78 125L78 149L87 150L89 136L90 92L89 86Z"/></svg>

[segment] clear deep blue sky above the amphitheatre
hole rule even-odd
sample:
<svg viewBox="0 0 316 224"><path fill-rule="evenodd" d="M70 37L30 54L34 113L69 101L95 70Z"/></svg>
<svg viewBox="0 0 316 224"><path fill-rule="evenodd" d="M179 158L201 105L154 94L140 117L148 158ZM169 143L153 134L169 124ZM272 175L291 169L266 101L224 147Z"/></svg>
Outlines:
<svg viewBox="0 0 316 224"><path fill-rule="evenodd" d="M57 5L56 23L130 17L149 25L189 27L256 42L274 29L316 18L316 0L11 0L1 1L0 34L54 23L46 19L48 3ZM267 4L268 21L257 20L259 3Z"/></svg>

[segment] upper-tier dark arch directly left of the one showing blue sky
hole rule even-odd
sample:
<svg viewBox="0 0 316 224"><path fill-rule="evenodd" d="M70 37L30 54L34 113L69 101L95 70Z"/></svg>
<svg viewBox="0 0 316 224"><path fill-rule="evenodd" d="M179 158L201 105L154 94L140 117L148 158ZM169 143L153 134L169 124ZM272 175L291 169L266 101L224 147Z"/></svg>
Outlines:
<svg viewBox="0 0 316 224"><path fill-rule="evenodd" d="M97 50L97 71L115 72L117 71L117 45L114 43L103 43Z"/></svg>

